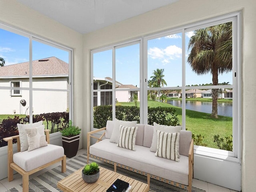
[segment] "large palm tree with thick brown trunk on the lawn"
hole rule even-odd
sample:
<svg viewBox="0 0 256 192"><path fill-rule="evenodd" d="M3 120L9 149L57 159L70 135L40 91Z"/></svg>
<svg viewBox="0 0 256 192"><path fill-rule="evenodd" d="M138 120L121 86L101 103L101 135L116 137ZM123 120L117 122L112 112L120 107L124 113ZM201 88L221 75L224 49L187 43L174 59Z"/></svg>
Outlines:
<svg viewBox="0 0 256 192"><path fill-rule="evenodd" d="M212 74L212 84L218 85L218 75L232 70L232 22L194 31L190 38L188 63L198 75ZM218 118L218 89L212 89L212 117Z"/></svg>

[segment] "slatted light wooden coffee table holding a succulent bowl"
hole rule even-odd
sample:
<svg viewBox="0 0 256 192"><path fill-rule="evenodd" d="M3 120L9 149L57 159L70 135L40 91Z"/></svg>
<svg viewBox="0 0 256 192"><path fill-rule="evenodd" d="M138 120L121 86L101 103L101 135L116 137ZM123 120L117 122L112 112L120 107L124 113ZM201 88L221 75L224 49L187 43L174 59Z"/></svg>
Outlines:
<svg viewBox="0 0 256 192"><path fill-rule="evenodd" d="M57 186L64 192L106 192L118 178L132 186L131 192L148 192L149 185L122 174L100 167L100 178L95 183L86 183L82 179L82 168L58 182Z"/></svg>

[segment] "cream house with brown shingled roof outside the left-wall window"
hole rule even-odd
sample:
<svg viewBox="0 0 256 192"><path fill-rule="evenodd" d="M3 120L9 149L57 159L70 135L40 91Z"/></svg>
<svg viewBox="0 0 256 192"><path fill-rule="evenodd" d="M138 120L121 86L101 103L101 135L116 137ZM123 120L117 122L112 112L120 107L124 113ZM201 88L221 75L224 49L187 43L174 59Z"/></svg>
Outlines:
<svg viewBox="0 0 256 192"><path fill-rule="evenodd" d="M68 74L69 64L56 57L32 61L33 88L67 90ZM29 88L29 75L29 62L2 66L0 67L0 86ZM28 114L28 106L30 106L28 90L1 89L0 95L0 114ZM69 94L66 91L33 91L33 114L64 112L68 106Z"/></svg>

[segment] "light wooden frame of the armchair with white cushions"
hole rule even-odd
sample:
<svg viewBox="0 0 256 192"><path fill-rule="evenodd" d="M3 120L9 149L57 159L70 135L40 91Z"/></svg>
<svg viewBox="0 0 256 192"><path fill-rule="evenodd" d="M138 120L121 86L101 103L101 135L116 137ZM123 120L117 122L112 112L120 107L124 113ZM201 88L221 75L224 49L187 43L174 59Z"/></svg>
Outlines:
<svg viewBox="0 0 256 192"><path fill-rule="evenodd" d="M50 130L44 130L46 134L46 141L48 144L50 144ZM20 137L19 135L16 136L11 136L11 137L6 137L3 138L4 141L8 142L8 181L13 180L13 170L18 172L19 174L22 175L22 191L23 192L28 192L28 183L29 183L29 176L35 172L38 172L52 164L55 164L56 162L62 161L61 163L61 172L66 172L66 155L62 156L61 158L58 158L52 162L49 162L43 166L40 166L38 168L35 168L29 172L26 172L22 168L20 168L17 164L13 162L13 144L12 140L17 139L17 148L18 152L20 152ZM35 149L36 150L36 149Z"/></svg>

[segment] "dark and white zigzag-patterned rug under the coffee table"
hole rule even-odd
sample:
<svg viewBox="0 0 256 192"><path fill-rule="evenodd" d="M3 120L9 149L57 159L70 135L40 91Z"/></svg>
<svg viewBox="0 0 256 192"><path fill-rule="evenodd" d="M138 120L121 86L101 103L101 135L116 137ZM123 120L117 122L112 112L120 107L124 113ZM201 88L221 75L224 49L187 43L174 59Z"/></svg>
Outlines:
<svg viewBox="0 0 256 192"><path fill-rule="evenodd" d="M74 171L84 167L84 165L86 164L86 158L87 154L82 154L80 156L77 156L76 158L68 160L66 163L67 169L65 173L61 172L61 166L57 166L56 168L46 171L38 176L30 176L29 192L62 192L62 190L60 190L57 187L58 181L72 174ZM96 160L90 159L90 161ZM114 166L100 161L98 161L98 163L100 166L114 171ZM142 176L140 174L119 167L117 168L117 172L125 176L139 180L141 182L147 183L146 176ZM22 184L20 184L20 188L12 188L7 192L22 192ZM186 190L151 178L150 192L186 192ZM192 186L192 192L205 191Z"/></svg>

